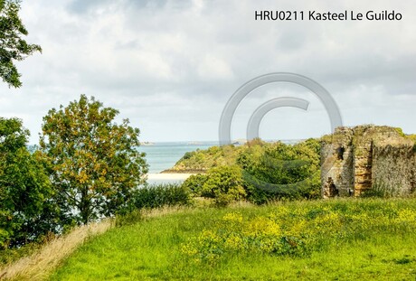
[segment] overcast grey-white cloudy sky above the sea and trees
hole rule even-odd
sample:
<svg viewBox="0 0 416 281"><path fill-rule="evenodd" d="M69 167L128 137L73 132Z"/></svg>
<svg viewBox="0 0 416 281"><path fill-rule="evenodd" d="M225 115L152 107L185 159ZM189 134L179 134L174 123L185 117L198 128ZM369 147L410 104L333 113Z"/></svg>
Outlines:
<svg viewBox="0 0 416 281"><path fill-rule="evenodd" d="M20 117L38 142L42 118L80 94L118 108L143 141L218 140L222 108L243 83L294 72L324 86L344 124L401 126L416 133L416 5L377 1L24 0L27 40L43 47L19 62L21 89L0 84L3 117ZM256 10L365 13L394 10L401 21L260 22ZM297 97L307 111L279 108L260 126L266 139L330 132L307 89L273 83L237 109L232 137L245 137L253 110Z"/></svg>

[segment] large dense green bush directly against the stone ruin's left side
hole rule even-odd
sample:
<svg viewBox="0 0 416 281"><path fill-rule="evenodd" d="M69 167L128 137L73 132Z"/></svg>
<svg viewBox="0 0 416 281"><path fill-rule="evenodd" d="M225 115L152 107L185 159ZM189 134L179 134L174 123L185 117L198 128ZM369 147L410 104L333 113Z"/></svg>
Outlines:
<svg viewBox="0 0 416 281"><path fill-rule="evenodd" d="M318 198L320 145L307 139L296 145L250 145L237 159L248 186L249 200Z"/></svg>

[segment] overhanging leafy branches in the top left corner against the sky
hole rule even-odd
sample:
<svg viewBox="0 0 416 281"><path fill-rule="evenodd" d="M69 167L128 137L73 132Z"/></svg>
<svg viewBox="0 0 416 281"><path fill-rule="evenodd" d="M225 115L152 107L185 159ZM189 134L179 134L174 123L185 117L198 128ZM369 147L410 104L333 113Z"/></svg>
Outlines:
<svg viewBox="0 0 416 281"><path fill-rule="evenodd" d="M28 32L18 15L19 10L19 0L0 0L0 77L14 88L22 86L14 61L23 61L33 52L42 52L41 46L22 39Z"/></svg>

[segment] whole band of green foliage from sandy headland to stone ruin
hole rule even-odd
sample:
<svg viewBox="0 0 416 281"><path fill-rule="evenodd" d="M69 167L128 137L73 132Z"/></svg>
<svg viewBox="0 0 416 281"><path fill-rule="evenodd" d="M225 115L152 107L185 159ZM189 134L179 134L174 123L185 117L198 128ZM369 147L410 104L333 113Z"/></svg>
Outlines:
<svg viewBox="0 0 416 281"><path fill-rule="evenodd" d="M270 144L256 139L247 145L214 146L191 154L183 157L175 167L180 164L195 167L197 159L209 159L205 167L210 168L204 174L191 176L184 185L195 196L215 198L219 204L245 198L261 204L278 199L316 199L320 196L320 144L317 139L307 139L296 145ZM232 164L213 165L212 160L220 159L220 156ZM232 173L232 180L227 179L225 171ZM215 185L219 186L217 194L213 192ZM224 186L232 186L232 192L236 193L224 192L229 190Z"/></svg>

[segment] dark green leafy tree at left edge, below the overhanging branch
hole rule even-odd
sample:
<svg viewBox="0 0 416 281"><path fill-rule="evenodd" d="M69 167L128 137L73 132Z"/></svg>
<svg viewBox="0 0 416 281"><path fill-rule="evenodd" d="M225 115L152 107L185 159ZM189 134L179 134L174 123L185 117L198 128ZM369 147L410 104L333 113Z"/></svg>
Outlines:
<svg viewBox="0 0 416 281"><path fill-rule="evenodd" d="M26 148L28 130L0 118L0 248L21 246L56 226L52 186L38 154Z"/></svg>

